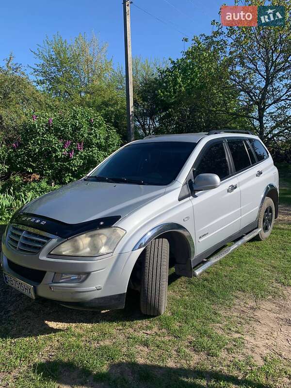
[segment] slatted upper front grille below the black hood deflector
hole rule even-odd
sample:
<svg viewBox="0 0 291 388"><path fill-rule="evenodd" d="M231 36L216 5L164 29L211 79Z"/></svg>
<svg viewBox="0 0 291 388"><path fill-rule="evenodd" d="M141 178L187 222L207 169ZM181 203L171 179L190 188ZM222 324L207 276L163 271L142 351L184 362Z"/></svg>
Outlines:
<svg viewBox="0 0 291 388"><path fill-rule="evenodd" d="M21 225L11 225L8 230L8 245L24 254L38 253L49 240L49 237L26 230Z"/></svg>

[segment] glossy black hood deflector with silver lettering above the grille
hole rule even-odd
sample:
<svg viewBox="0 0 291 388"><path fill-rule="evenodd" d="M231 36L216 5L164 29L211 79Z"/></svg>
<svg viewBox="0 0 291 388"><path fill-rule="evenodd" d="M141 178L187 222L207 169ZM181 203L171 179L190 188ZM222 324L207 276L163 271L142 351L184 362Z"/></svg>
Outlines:
<svg viewBox="0 0 291 388"><path fill-rule="evenodd" d="M30 226L35 229L60 236L64 239L76 236L77 234L88 232L90 230L102 229L113 226L119 219L120 215L97 218L80 224L66 224L62 221L53 220L49 217L39 216L31 213L17 212L11 219L11 223Z"/></svg>

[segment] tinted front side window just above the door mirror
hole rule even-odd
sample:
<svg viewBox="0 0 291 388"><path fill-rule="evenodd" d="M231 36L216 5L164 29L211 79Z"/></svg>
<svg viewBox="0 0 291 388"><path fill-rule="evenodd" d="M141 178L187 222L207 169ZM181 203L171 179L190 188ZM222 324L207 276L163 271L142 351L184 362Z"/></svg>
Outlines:
<svg viewBox="0 0 291 388"><path fill-rule="evenodd" d="M220 179L229 175L229 167L226 159L225 149L222 143L210 146L202 156L202 159L195 168L194 178L199 174L217 174Z"/></svg>

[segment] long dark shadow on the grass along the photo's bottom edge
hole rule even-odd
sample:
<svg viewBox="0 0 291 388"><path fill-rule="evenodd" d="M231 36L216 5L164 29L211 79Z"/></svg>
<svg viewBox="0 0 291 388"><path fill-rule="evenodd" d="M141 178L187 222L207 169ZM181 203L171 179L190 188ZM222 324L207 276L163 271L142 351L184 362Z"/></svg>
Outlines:
<svg viewBox="0 0 291 388"><path fill-rule="evenodd" d="M230 374L202 370L162 367L158 365L120 362L112 364L107 372L92 374L90 370L79 368L74 363L46 361L33 366L33 370L45 382L53 381L62 387L159 387L159 388L205 388L235 387L267 388L268 386Z"/></svg>

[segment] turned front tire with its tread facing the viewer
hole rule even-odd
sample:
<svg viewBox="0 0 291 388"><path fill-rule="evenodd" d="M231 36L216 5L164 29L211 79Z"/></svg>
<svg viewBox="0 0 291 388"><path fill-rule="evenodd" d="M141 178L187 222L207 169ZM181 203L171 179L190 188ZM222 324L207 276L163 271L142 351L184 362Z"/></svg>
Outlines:
<svg viewBox="0 0 291 388"><path fill-rule="evenodd" d="M146 246L142 262L140 308L143 314L162 315L167 306L169 242L155 239Z"/></svg>

